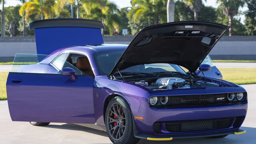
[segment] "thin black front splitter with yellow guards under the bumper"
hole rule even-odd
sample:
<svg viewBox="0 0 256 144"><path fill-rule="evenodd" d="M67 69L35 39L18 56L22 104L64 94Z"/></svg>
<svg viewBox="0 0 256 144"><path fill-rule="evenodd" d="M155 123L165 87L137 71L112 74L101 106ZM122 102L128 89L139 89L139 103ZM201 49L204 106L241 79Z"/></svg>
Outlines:
<svg viewBox="0 0 256 144"><path fill-rule="evenodd" d="M226 130L219 132L208 132L201 134L179 134L179 135L160 135L160 136L152 136L147 134L140 134L138 132L134 132L134 136L136 138L146 139L146 140L172 140L173 138L192 138L192 137L211 137L211 136L222 136L227 134L244 134L245 130L235 129L235 130Z"/></svg>

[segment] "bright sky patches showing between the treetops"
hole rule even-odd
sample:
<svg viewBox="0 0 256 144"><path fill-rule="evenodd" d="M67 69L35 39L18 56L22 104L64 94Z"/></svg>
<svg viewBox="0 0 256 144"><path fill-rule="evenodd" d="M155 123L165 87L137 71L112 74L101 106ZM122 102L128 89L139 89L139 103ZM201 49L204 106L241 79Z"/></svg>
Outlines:
<svg viewBox="0 0 256 144"><path fill-rule="evenodd" d="M130 0L110 0L112 2L115 2L119 8L124 8L127 6L131 6ZM206 6L212 6L214 8L218 7L218 4L216 4L216 0L207 0L206 2L203 0L204 5ZM18 0L6 0L6 6L16 6L17 4L21 4ZM241 11L245 11L247 8L243 7L240 8ZM244 23L245 16L241 15L239 16L241 18L241 22Z"/></svg>

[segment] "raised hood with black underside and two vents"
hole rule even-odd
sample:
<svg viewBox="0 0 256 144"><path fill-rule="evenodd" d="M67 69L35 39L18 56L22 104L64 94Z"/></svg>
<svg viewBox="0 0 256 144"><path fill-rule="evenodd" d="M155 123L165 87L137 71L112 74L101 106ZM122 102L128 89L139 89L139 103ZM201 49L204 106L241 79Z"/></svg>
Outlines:
<svg viewBox="0 0 256 144"><path fill-rule="evenodd" d="M130 66L152 63L177 64L195 72L228 28L198 21L145 27L126 48L110 74Z"/></svg>

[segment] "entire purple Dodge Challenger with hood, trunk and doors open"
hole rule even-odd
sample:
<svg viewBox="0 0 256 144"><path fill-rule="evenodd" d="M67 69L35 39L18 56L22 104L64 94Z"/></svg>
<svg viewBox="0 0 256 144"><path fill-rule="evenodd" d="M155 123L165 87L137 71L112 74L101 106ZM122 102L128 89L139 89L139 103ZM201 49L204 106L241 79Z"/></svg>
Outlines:
<svg viewBox="0 0 256 144"><path fill-rule="evenodd" d="M88 126L115 144L245 133L246 90L210 78L202 64L228 26L158 24L129 45L104 44L97 20L37 20L30 28L37 54L16 54L6 83L13 121Z"/></svg>

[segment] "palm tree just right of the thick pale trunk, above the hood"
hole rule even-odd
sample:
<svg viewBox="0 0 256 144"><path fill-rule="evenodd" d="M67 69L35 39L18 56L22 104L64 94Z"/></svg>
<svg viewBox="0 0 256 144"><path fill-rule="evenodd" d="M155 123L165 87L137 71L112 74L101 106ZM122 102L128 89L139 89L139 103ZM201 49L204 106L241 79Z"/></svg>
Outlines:
<svg viewBox="0 0 256 144"><path fill-rule="evenodd" d="M194 12L194 20L197 21L198 20L198 12L202 8L202 0L183 0L183 2L185 4L187 4L189 6L190 10L192 10Z"/></svg>

